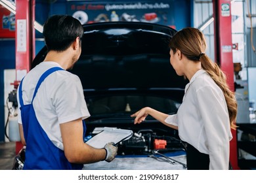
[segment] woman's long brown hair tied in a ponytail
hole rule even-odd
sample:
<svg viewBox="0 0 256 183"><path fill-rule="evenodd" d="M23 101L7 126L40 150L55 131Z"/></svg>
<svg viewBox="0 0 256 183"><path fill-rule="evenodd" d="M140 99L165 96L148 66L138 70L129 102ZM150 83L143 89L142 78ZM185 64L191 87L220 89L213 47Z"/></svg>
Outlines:
<svg viewBox="0 0 256 183"><path fill-rule="evenodd" d="M214 63L206 54L205 50L207 44L203 33L196 28L188 27L175 33L169 47L175 54L176 49L181 50L182 54L186 58L192 61L201 61L202 69L205 70L215 83L221 88L226 99L226 105L228 107L228 115L230 119L230 126L232 129L236 128L234 122L237 115L237 102L234 92L230 90L226 82L226 75L221 71L219 65Z"/></svg>

